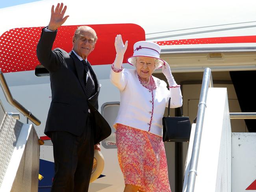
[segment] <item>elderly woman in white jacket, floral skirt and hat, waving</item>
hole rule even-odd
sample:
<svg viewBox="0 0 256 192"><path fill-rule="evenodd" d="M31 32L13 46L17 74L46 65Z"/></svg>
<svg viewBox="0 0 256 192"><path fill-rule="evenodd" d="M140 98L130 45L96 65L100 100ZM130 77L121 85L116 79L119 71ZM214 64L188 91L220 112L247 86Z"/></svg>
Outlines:
<svg viewBox="0 0 256 192"><path fill-rule="evenodd" d="M111 66L111 82L120 90L121 102L115 121L119 165L124 175L124 192L171 192L165 148L162 141L162 117L171 97L171 108L182 106L180 86L169 65L159 58L158 44L139 41L128 63L135 69L123 69L128 41L115 38L116 58ZM167 84L154 76L162 66Z"/></svg>

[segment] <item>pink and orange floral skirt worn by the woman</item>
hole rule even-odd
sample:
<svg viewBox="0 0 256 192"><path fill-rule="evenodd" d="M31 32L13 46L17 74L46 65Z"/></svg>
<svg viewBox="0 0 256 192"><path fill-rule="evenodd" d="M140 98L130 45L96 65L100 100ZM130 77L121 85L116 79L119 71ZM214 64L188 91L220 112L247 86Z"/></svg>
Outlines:
<svg viewBox="0 0 256 192"><path fill-rule="evenodd" d="M162 138L117 124L117 155L125 185L144 192L171 192Z"/></svg>

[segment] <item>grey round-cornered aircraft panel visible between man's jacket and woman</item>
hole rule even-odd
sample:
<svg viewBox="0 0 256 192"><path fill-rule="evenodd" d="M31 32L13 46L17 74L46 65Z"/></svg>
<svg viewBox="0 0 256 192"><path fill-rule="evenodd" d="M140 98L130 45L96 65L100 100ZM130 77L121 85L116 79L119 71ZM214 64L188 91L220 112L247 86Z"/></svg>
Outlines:
<svg viewBox="0 0 256 192"><path fill-rule="evenodd" d="M101 114L104 116L106 121L111 127L111 135L102 141L102 146L106 149L116 149L117 145L115 142L115 129L113 128L113 124L117 117L117 113L119 111L120 102L106 102L101 107Z"/></svg>

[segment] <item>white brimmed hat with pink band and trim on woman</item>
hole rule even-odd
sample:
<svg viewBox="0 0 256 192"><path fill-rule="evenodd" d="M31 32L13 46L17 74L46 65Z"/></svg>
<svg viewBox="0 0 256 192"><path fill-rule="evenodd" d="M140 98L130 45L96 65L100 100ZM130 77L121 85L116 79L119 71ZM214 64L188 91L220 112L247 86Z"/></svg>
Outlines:
<svg viewBox="0 0 256 192"><path fill-rule="evenodd" d="M138 56L153 57L160 61L159 65L156 66L156 68L160 68L162 65L165 65L165 61L159 58L160 52L161 52L161 47L155 42L138 41L134 43L134 55L131 57L128 57L127 62L130 65L133 65L131 63L132 57L138 57Z"/></svg>

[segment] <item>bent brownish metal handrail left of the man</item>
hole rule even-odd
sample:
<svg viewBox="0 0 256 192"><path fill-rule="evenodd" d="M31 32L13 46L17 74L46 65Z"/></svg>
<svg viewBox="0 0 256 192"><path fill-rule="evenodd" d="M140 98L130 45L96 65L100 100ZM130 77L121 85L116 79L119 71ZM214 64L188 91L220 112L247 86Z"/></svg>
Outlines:
<svg viewBox="0 0 256 192"><path fill-rule="evenodd" d="M37 119L30 111L28 111L28 109L26 109L19 102L13 99L13 96L11 95L11 92L9 90L9 87L6 83L6 79L4 78L4 74L1 69L0 69L0 84L4 92L4 95L6 96L7 102L10 103L13 107L15 107L20 113L22 113L35 125L39 126L41 124L41 121Z"/></svg>

